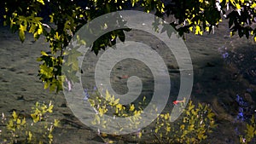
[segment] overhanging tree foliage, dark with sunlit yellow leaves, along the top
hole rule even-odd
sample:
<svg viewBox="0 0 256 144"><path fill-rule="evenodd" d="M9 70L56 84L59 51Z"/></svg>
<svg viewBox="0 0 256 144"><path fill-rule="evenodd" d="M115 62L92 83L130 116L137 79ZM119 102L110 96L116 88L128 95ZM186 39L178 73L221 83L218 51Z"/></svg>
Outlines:
<svg viewBox="0 0 256 144"><path fill-rule="evenodd" d="M61 74L63 51L75 32L96 17L132 7L141 7L145 12L175 19L169 23L180 36L193 32L202 35L214 31L223 19L229 21L230 35L254 37L256 41L256 2L254 0L2 0L0 12L3 24L13 32L19 32L20 41L26 32L37 40L44 35L49 43L50 55L44 51L39 61L39 77L44 88L60 91L66 78ZM112 46L117 37L125 41L127 29L108 32L91 46L96 54L100 49ZM78 67L73 66L73 71Z"/></svg>

